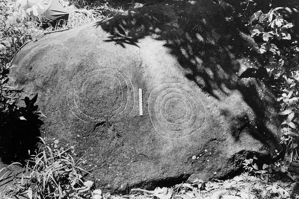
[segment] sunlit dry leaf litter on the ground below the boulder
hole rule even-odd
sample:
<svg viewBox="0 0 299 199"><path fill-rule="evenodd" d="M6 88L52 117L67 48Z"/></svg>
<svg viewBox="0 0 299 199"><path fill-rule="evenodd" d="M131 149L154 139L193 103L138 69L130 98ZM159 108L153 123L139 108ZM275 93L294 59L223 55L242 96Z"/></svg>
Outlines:
<svg viewBox="0 0 299 199"><path fill-rule="evenodd" d="M262 180L260 176L242 173L232 179L213 179L206 182L195 179L193 183L181 183L170 188L158 187L153 191L131 189L132 194L119 197L130 199L298 199L298 192L294 191L292 184L286 180L283 182L274 178Z"/></svg>

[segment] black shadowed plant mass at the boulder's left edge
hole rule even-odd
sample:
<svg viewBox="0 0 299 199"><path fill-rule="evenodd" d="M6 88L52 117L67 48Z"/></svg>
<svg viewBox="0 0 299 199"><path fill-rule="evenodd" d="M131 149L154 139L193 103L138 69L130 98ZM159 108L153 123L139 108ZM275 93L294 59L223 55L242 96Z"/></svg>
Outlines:
<svg viewBox="0 0 299 199"><path fill-rule="evenodd" d="M25 107L0 113L0 158L1 161L24 163L36 150L40 126L38 105L34 105L37 94L31 100L25 97Z"/></svg>

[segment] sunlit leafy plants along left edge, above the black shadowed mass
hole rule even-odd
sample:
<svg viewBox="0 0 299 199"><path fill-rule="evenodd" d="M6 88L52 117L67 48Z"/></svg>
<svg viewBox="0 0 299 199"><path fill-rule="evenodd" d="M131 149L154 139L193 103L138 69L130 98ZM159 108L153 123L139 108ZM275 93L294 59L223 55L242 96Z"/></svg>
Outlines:
<svg viewBox="0 0 299 199"><path fill-rule="evenodd" d="M27 12L13 11L14 4L1 1L0 10L0 114L14 111L22 91L7 85L9 63L17 49L28 39L24 27L28 26Z"/></svg>

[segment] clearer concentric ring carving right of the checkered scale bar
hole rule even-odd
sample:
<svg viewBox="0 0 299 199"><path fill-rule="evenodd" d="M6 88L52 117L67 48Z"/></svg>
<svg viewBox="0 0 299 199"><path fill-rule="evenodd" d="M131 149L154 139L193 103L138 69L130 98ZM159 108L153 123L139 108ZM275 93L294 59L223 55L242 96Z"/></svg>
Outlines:
<svg viewBox="0 0 299 199"><path fill-rule="evenodd" d="M206 120L205 107L195 92L180 83L166 83L149 96L149 116L164 137L179 139L197 132Z"/></svg>

